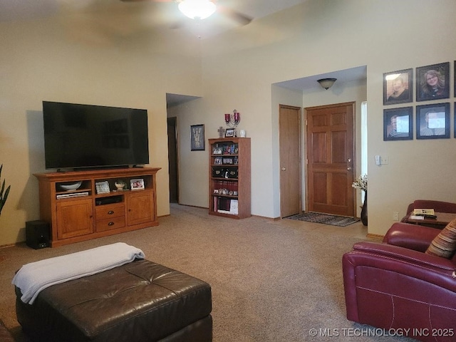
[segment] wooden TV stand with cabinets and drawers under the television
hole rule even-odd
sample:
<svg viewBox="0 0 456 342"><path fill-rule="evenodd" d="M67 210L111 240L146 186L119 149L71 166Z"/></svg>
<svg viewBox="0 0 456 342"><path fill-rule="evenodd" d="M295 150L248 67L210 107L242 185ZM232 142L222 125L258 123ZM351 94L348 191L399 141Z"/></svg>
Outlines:
<svg viewBox="0 0 456 342"><path fill-rule="evenodd" d="M34 174L40 216L51 225L51 247L157 226L158 170L133 167ZM130 190L131 180L142 180L144 188ZM115 182L120 181L128 190L115 191ZM71 182L81 182L81 186L63 190L61 185Z"/></svg>

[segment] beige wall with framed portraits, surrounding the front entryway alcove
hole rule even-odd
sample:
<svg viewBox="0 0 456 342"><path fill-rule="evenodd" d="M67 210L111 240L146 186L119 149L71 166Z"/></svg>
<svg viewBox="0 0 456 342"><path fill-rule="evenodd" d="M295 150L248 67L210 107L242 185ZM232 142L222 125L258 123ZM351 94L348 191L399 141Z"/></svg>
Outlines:
<svg viewBox="0 0 456 342"><path fill-rule="evenodd" d="M207 114L207 138L217 136L223 113L234 108L241 113L240 127L252 138L252 214L279 216L276 104L281 100L271 92L271 85L358 66L367 66L365 83L336 84L329 92L316 89L303 93L301 101L285 104L301 102L306 107L353 100L359 120L361 101L368 100L368 232L384 234L393 223L393 211L402 217L414 199L455 202L453 83L451 98L434 101L450 103L451 138L416 140L414 133L414 140L394 142L383 141L383 109L400 105L383 106L382 83L383 73L404 68L415 72L419 66L445 61L451 62L453 77L456 45L451 32L456 26L452 18L455 11L456 3L451 0L312 0L204 40L203 99L194 103L191 111ZM424 29L423 23L429 22L438 22L447 33ZM413 107L419 104L411 103ZM190 115L182 129L189 130L187 124L199 121ZM359 143L359 132L356 140ZM358 147L358 159L360 150ZM418 157L418 151L429 157ZM389 165L375 166L373 156L378 154L388 156ZM204 158L197 160L189 158L180 166L196 170ZM357 166L359 174L359 160ZM207 176L207 170L200 170ZM195 180L201 183L192 187L207 189L205 177L198 175L192 178ZM207 205L204 192L185 191L182 185L181 195L188 199L185 204ZM357 197L359 201L359 193Z"/></svg>

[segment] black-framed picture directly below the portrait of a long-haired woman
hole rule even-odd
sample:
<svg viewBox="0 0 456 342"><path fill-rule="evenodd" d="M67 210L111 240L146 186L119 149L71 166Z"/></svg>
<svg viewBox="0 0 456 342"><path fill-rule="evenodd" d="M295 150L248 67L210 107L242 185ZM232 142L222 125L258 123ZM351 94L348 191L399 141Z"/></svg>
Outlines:
<svg viewBox="0 0 456 342"><path fill-rule="evenodd" d="M416 138L450 138L450 103L416 106Z"/></svg>

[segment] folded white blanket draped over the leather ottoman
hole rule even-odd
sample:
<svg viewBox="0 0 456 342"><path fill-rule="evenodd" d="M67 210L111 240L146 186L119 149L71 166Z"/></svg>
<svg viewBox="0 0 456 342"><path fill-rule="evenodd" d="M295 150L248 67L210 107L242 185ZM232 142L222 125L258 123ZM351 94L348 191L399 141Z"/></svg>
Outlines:
<svg viewBox="0 0 456 342"><path fill-rule="evenodd" d="M43 289L65 281L90 276L144 259L141 249L118 242L26 264L17 271L12 283L21 289L21 301L33 304Z"/></svg>

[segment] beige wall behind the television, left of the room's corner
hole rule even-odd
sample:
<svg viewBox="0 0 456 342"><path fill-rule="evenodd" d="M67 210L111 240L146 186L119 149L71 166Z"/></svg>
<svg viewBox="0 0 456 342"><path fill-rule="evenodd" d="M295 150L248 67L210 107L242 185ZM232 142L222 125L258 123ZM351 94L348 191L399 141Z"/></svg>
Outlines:
<svg viewBox="0 0 456 342"><path fill-rule="evenodd" d="M0 24L0 163L11 184L0 246L24 241L25 222L39 219L33 173L46 171L43 100L147 109L150 166L162 168L157 212L170 212L166 93L199 95L199 40L134 31L97 36L84 25L71 30L71 17L64 19Z"/></svg>

